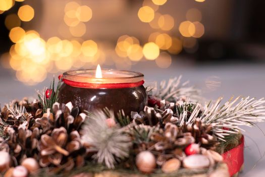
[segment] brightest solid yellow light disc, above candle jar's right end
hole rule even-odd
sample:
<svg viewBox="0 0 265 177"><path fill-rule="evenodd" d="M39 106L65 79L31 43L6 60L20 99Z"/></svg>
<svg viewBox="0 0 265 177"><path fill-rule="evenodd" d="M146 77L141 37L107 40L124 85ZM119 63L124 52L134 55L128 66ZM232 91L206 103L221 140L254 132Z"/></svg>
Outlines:
<svg viewBox="0 0 265 177"><path fill-rule="evenodd" d="M160 54L159 47L154 42L145 43L143 55L147 60L155 60Z"/></svg>

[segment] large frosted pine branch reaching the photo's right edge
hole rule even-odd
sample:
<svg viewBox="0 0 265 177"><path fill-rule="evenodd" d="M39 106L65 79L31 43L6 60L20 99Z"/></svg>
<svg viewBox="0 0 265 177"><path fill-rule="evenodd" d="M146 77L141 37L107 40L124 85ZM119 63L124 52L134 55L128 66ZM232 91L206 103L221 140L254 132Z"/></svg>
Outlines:
<svg viewBox="0 0 265 177"><path fill-rule="evenodd" d="M180 116L179 125L192 124L198 118L205 124L211 124L215 135L223 140L225 136L237 134L240 130L239 126L253 126L256 122L265 120L265 100L254 98L231 98L228 102L221 106L223 98L219 98L215 103L208 103L202 108L196 103L191 116L187 119L186 113ZM228 129L223 129L226 127Z"/></svg>

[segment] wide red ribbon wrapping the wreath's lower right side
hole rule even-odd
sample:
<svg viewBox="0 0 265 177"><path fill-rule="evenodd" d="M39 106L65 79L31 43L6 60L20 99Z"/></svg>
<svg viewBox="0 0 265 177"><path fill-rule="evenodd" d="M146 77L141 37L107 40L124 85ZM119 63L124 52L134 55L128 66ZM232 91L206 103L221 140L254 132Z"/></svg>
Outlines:
<svg viewBox="0 0 265 177"><path fill-rule="evenodd" d="M222 154L224 162L228 166L230 176L240 171L244 163L244 137L241 138L241 144Z"/></svg>

